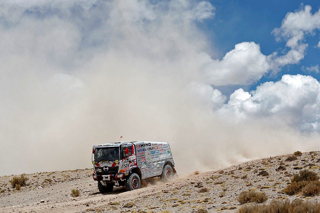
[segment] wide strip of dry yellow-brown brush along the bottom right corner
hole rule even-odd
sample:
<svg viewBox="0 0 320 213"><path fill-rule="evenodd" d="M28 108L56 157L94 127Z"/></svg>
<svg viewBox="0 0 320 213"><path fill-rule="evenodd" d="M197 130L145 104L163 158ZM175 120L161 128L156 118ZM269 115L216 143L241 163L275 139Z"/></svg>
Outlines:
<svg viewBox="0 0 320 213"><path fill-rule="evenodd" d="M239 208L237 213L301 213L301 212L320 212L320 203L309 202L296 199L292 202L289 200L273 200L269 204L263 205L245 205Z"/></svg>

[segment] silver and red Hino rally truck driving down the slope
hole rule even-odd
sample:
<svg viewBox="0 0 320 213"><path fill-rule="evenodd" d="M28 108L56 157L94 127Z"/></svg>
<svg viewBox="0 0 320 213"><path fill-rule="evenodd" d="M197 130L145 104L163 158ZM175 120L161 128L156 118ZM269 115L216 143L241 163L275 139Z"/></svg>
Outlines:
<svg viewBox="0 0 320 213"><path fill-rule="evenodd" d="M169 181L176 174L167 142L113 142L92 147L93 180L101 193L114 186L139 189L141 180L160 177Z"/></svg>

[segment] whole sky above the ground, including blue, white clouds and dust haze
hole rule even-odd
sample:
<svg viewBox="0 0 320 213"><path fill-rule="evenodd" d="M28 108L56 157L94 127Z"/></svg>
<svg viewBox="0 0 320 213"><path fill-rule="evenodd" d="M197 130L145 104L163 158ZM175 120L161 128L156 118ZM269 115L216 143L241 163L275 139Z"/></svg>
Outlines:
<svg viewBox="0 0 320 213"><path fill-rule="evenodd" d="M319 7L2 1L0 161L12 147L16 161L0 175L90 167L90 147L120 135L201 141L175 153L199 170L318 149Z"/></svg>

